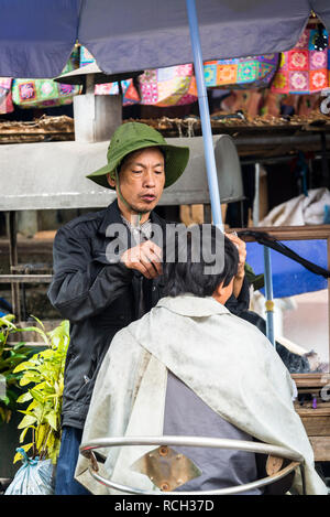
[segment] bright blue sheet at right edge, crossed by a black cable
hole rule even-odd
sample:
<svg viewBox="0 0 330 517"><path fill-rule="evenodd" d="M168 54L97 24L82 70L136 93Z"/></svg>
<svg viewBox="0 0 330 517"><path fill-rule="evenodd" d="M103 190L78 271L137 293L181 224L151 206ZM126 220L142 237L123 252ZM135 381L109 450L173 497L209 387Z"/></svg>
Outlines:
<svg viewBox="0 0 330 517"><path fill-rule="evenodd" d="M328 269L327 240L285 240L288 248L305 259ZM328 280L308 271L304 266L271 249L274 298L293 297L304 292L327 289ZM256 274L264 272L263 246L246 243L246 261ZM264 294L264 289L261 290Z"/></svg>

